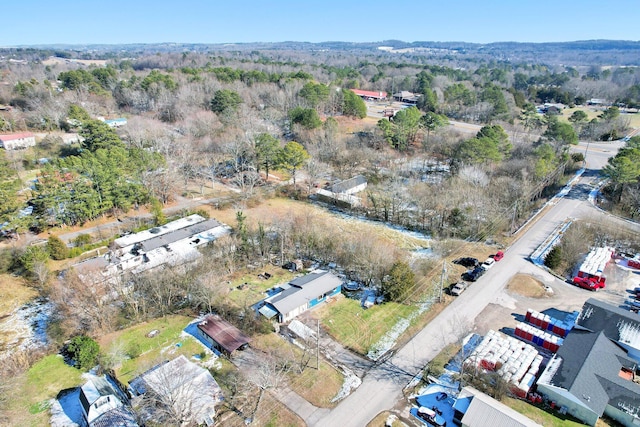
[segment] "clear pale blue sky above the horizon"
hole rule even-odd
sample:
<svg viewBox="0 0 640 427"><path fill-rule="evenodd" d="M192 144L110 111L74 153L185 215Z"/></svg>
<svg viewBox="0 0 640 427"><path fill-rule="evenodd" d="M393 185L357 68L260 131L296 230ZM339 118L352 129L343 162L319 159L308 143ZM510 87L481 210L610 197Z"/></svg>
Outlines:
<svg viewBox="0 0 640 427"><path fill-rule="evenodd" d="M640 40L638 0L3 0L0 46Z"/></svg>

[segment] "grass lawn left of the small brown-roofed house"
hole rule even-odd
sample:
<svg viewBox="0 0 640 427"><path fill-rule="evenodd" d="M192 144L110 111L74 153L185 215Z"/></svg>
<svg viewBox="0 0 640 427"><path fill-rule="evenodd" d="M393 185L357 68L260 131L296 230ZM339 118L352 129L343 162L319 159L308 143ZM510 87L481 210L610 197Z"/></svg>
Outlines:
<svg viewBox="0 0 640 427"><path fill-rule="evenodd" d="M174 315L141 323L103 336L99 340L100 348L114 360L118 379L127 383L164 360L181 354L190 359L194 354L203 352L202 345L195 338L181 336L182 330L192 320L191 317ZM146 335L154 329L159 333L148 338Z"/></svg>

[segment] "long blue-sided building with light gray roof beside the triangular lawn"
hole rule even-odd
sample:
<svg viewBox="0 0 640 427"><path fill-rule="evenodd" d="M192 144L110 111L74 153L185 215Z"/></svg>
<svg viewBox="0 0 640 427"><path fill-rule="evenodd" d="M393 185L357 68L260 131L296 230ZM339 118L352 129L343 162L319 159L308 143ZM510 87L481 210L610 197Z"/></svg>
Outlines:
<svg viewBox="0 0 640 427"><path fill-rule="evenodd" d="M267 298L258 310L263 316L287 323L342 290L342 279L330 271L315 270L289 282L289 287Z"/></svg>

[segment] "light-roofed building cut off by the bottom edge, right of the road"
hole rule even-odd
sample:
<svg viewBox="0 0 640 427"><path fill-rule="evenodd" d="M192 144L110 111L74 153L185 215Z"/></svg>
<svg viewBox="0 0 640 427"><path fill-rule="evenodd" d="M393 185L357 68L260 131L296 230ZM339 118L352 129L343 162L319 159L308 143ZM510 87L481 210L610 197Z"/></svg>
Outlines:
<svg viewBox="0 0 640 427"><path fill-rule="evenodd" d="M460 391L453 409L454 420L462 427L542 427L473 387Z"/></svg>

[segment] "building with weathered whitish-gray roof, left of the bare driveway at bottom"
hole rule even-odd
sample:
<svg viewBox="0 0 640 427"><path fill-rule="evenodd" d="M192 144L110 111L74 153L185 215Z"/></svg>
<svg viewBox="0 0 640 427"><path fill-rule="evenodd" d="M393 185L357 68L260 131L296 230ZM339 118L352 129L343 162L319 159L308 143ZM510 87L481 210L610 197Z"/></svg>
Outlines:
<svg viewBox="0 0 640 427"><path fill-rule="evenodd" d="M181 414L185 425L212 426L216 404L223 400L222 389L211 373L184 355L156 365L131 380L129 392L153 402L141 412L159 423L163 418L155 409L170 405L170 412Z"/></svg>

